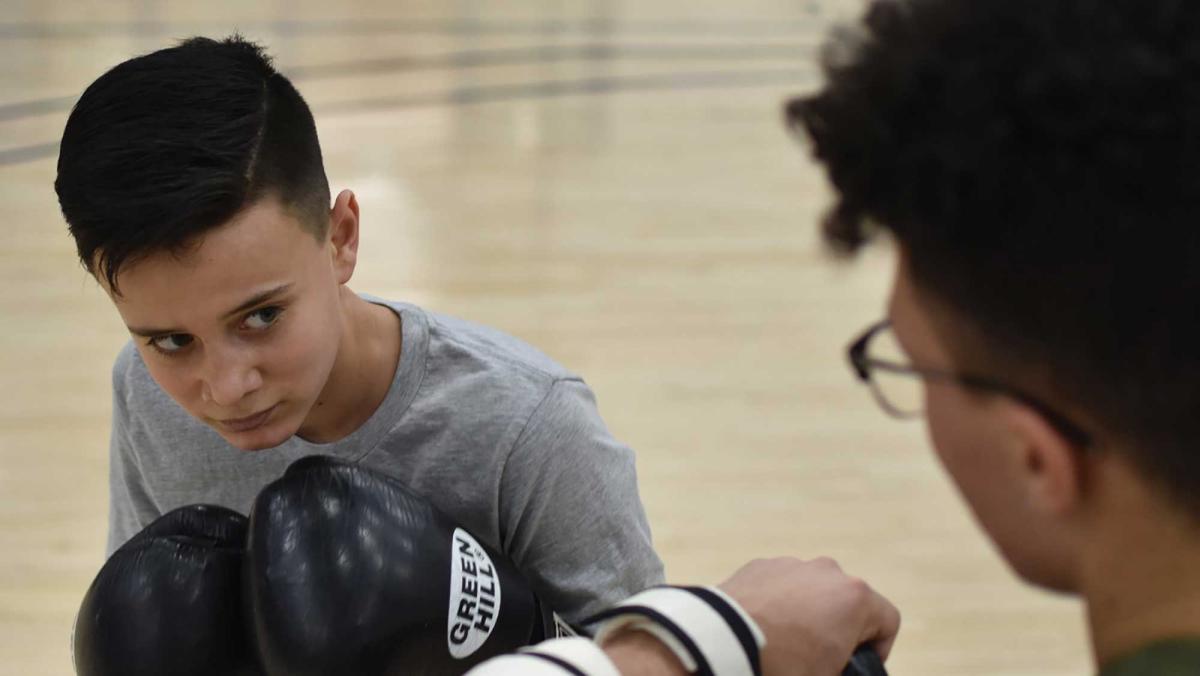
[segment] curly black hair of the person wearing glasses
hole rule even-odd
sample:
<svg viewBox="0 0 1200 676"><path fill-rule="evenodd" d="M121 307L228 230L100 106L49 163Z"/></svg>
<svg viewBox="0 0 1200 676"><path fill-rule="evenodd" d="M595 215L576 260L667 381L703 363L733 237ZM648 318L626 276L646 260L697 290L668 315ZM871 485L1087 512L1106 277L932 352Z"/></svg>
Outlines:
<svg viewBox="0 0 1200 676"><path fill-rule="evenodd" d="M876 0L823 68L787 118L827 239L889 231L985 367L1200 515L1200 4Z"/></svg>

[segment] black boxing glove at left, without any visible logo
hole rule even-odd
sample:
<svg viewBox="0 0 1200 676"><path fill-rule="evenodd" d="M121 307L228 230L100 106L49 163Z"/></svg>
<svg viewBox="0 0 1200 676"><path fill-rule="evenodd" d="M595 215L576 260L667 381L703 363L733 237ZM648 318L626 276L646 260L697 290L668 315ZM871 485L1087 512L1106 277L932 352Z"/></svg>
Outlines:
<svg viewBox="0 0 1200 676"><path fill-rule="evenodd" d="M79 676L251 676L241 608L246 518L181 507L108 558L76 617Z"/></svg>

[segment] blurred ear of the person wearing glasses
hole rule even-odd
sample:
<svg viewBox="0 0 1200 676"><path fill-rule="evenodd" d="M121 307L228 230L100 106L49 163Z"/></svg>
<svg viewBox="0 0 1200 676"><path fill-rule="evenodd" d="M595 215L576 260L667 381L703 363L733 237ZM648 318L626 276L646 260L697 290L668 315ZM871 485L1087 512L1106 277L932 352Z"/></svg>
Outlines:
<svg viewBox="0 0 1200 676"><path fill-rule="evenodd" d="M1012 402L1003 414L1016 444L1014 460L1025 479L1030 504L1057 516L1073 512L1086 487L1082 449L1024 403Z"/></svg>

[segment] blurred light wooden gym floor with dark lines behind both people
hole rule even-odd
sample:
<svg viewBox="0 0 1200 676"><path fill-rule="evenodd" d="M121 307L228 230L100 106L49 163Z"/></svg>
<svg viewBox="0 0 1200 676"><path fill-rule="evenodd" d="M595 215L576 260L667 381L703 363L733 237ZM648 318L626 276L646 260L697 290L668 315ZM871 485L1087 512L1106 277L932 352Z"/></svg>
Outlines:
<svg viewBox="0 0 1200 676"><path fill-rule="evenodd" d="M971 522L919 423L844 358L887 243L821 245L828 189L781 103L858 0L0 0L0 672L72 672L103 563L112 360L128 335L54 196L96 77L233 31L312 106L354 190L352 287L490 324L581 373L638 454L676 582L832 555L904 611L896 675L1088 674L1081 611Z"/></svg>

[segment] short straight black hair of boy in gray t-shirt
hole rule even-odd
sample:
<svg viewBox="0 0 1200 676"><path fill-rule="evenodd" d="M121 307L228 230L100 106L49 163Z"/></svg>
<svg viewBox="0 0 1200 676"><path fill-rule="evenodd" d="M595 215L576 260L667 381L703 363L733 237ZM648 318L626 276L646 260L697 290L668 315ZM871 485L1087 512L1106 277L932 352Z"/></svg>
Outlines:
<svg viewBox="0 0 1200 676"><path fill-rule="evenodd" d="M274 196L317 237L329 183L312 112L262 47L193 37L84 91L54 189L79 259L114 293L122 265L180 252Z"/></svg>

